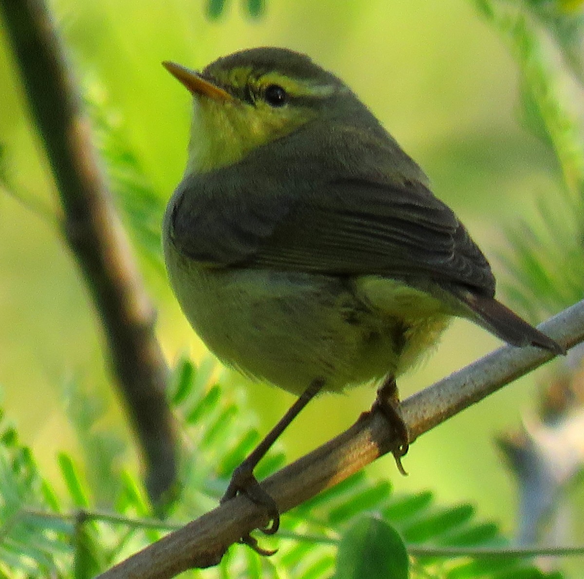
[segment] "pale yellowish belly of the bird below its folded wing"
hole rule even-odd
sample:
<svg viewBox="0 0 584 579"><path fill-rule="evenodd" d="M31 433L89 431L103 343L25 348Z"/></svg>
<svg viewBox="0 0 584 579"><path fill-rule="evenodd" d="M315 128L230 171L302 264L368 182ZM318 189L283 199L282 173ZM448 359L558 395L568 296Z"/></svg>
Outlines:
<svg viewBox="0 0 584 579"><path fill-rule="evenodd" d="M165 252L180 306L207 347L297 395L317 378L340 391L399 375L449 320L439 301L394 280L213 269Z"/></svg>

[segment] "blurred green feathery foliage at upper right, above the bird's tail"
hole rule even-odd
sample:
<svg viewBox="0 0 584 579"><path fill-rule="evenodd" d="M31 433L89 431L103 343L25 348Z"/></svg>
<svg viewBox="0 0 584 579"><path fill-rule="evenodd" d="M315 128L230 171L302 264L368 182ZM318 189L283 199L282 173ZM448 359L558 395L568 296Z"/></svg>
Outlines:
<svg viewBox="0 0 584 579"><path fill-rule="evenodd" d="M559 196L538 199L533 219L507 227L505 287L532 320L584 297L584 15L581 2L478 0L519 70L520 120L557 160Z"/></svg>

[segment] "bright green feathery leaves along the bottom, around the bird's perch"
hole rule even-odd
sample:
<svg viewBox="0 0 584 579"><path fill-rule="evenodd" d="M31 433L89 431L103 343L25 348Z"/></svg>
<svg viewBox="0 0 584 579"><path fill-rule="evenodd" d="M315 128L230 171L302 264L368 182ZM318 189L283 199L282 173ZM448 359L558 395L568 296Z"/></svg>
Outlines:
<svg viewBox="0 0 584 579"><path fill-rule="evenodd" d="M93 577L117 560L160 538L166 531L208 511L227 486L230 473L259 439L237 415L251 411L241 394L211 379L213 365L179 362L173 373L172 404L193 448L183 456L182 487L161 512L145 500L138 476L119 464L119 445L99 431L103 405L84 399L69 386L71 422L85 461L61 453L58 494L41 476L14 428L0 436L0 569L6 577ZM263 477L284 463L279 450L261 464ZM103 477L88 476L89 465L107 471L109 502L96 495ZM57 481L53 481L54 483ZM541 573L529 561L505 554L497 526L477 520L468 504L439 507L432 493L397 495L387 481L363 472L321 493L282 519L277 538L260 538L276 547L260 557L247 547L231 547L217 569L192 571L193 577L559 577ZM501 547L500 557L425 554L427 547ZM407 555L407 550L415 555ZM408 571L409 570L409 571ZM408 575L408 572L410 573Z"/></svg>

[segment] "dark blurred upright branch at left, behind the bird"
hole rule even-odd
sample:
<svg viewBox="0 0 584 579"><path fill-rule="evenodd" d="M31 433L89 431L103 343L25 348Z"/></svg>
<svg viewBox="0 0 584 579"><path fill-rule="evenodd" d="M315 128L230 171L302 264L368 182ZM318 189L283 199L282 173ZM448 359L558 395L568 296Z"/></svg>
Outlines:
<svg viewBox="0 0 584 579"><path fill-rule="evenodd" d="M62 233L105 332L120 387L157 500L176 475L176 436L165 400L168 368L96 154L91 128L53 22L41 0L0 0L0 13L43 138L64 212Z"/></svg>

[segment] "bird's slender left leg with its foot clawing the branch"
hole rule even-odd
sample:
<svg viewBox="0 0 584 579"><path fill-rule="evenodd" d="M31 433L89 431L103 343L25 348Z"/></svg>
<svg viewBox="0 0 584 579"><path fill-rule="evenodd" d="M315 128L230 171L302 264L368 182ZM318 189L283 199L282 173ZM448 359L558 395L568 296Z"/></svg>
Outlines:
<svg viewBox="0 0 584 579"><path fill-rule="evenodd" d="M221 504L225 501L234 498L238 493L243 493L251 501L258 505L263 505L266 507L270 518L272 519L272 524L267 528L262 529L262 532L266 535L273 535L280 526L280 512L278 511L278 506L276 501L270 497L269 494L260 487L258 479L253 474L253 469L265 456L266 452L270 449L270 446L276 442L276 439L284 432L288 424L296 418L300 411L307 405L312 398L314 398L318 392L324 386L324 380L317 379L314 380L310 386L300 395L298 400L291 405L290 409L284 414L280 421L267 433L262 442L252 450L251 454L242 462L231 476L231 481L227 487L227 491L221 498ZM258 551L260 554L270 554L269 552L264 552L257 546L255 539L252 539L249 535L241 539L241 542L246 543L251 546L252 549Z"/></svg>

